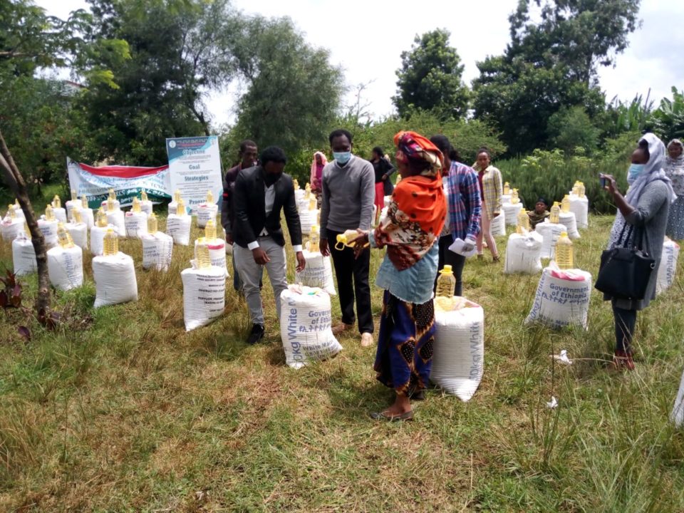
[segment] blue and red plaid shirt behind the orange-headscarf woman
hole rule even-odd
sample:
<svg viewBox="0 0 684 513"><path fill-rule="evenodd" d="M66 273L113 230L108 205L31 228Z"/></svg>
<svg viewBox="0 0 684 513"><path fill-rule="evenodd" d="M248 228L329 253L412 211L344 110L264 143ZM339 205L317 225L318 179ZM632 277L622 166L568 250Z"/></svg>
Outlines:
<svg viewBox="0 0 684 513"><path fill-rule="evenodd" d="M475 239L480 233L482 212L477 173L472 167L452 161L445 184L449 201L450 232L453 239Z"/></svg>

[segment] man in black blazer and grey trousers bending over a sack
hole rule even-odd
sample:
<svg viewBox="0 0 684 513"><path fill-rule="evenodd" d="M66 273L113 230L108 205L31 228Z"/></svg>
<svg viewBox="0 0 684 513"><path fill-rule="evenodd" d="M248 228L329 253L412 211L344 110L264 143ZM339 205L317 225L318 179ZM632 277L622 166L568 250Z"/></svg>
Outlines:
<svg viewBox="0 0 684 513"><path fill-rule="evenodd" d="M294 200L294 185L290 175L283 172L285 163L283 150L276 146L267 147L261 152L260 165L242 170L235 180L233 258L244 284L244 297L252 318L252 332L247 338L249 344L264 337L264 312L259 290L264 266L269 273L280 318L280 294L287 288L281 210L296 253L297 271L306 265L301 251L301 225Z"/></svg>

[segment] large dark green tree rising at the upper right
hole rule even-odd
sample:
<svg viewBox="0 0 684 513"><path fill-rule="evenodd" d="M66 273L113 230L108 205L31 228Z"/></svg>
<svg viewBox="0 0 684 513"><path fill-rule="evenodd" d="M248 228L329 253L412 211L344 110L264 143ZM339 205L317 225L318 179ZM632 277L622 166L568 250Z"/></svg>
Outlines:
<svg viewBox="0 0 684 513"><path fill-rule="evenodd" d="M511 43L504 55L481 63L473 81L475 117L502 132L514 152L549 143L547 122L561 106L580 106L590 118L604 108L596 67L608 66L636 29L640 0L538 0L541 21L531 21L529 0L509 17Z"/></svg>

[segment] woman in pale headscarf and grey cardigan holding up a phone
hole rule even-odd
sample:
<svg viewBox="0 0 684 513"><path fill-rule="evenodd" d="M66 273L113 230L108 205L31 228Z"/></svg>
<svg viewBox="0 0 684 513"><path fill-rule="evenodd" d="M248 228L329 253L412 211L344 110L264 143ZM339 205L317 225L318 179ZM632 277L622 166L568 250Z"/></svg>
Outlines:
<svg viewBox="0 0 684 513"><path fill-rule="evenodd" d="M606 179L606 190L612 195L618 207L615 222L611 229L608 249L634 245L641 247L653 259L655 269L660 264L663 252L665 226L668 222L670 203L675 199L672 182L665 175L665 145L652 133L644 135L638 147L632 153L632 163L627 172L629 188L625 196L618 191L615 178L601 175ZM623 230L623 228L626 228ZM622 241L620 237L629 241ZM610 299L613 304L615 318L616 348L613 364L619 369L633 370L632 338L636 326L636 312L643 310L655 298L655 279L657 272L651 273L646 286L646 296L640 301L616 299L604 294L603 299Z"/></svg>

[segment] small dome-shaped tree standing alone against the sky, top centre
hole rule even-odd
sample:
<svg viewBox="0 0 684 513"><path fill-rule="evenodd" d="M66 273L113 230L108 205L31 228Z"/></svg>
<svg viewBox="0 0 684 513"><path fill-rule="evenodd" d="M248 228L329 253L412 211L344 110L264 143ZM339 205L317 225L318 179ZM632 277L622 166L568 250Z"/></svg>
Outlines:
<svg viewBox="0 0 684 513"><path fill-rule="evenodd" d="M415 36L411 50L401 53L398 90L393 97L401 117L414 110L434 110L445 119L465 117L469 93L461 80L460 57L448 44L449 36L444 28Z"/></svg>

